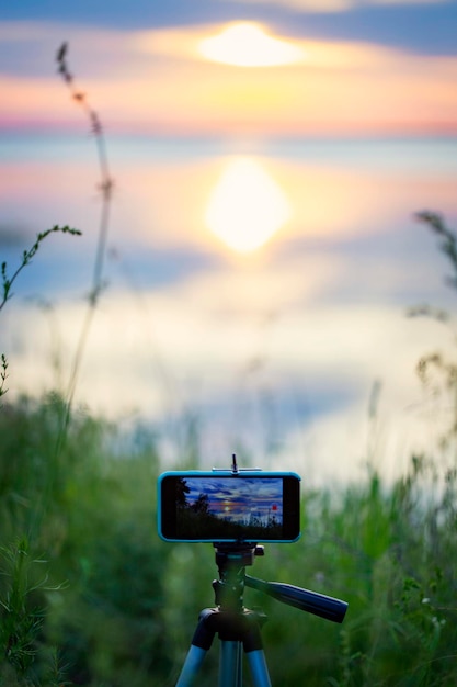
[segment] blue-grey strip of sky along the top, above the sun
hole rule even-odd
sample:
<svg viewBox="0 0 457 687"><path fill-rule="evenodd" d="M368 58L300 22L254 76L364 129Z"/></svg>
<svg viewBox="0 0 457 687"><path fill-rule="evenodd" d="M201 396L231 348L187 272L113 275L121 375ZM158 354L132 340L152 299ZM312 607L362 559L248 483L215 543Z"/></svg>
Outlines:
<svg viewBox="0 0 457 687"><path fill-rule="evenodd" d="M340 11L306 9L321 3L242 2L218 0L138 0L125 2L77 3L23 1L3 4L0 19L8 21L53 21L98 27L142 29L233 20L266 21L292 34L315 37L375 41L425 54L454 55L457 50L457 4L455 1L430 2L352 2ZM338 4L338 3L336 3ZM290 3L294 5L294 3Z"/></svg>

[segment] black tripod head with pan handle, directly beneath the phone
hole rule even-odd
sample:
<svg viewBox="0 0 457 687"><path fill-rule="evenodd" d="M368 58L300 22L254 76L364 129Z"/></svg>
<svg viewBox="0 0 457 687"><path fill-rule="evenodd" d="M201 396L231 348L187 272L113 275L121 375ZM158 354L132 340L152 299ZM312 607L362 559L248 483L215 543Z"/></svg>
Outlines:
<svg viewBox="0 0 457 687"><path fill-rule="evenodd" d="M264 582L245 574L245 566L253 565L254 556L264 555L263 547L255 543L224 544L215 543L216 564L219 579L213 582L216 604L230 610L243 607L244 585L258 589L267 596L294 606L308 613L319 616L332 622L343 622L347 610L346 601L341 601L324 594L302 589L282 582Z"/></svg>

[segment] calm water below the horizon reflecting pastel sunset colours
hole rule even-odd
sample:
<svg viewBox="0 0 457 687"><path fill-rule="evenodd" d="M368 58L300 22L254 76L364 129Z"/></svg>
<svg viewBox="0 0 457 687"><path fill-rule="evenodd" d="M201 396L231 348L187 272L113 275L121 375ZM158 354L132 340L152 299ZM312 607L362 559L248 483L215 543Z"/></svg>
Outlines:
<svg viewBox="0 0 457 687"><path fill-rule="evenodd" d="M124 421L163 424L185 409L198 418L204 461L225 464L237 444L262 466L313 481L353 474L373 442L386 473L416 441L434 446L414 367L450 339L404 313L419 302L453 307L445 259L414 212L439 210L457 225L457 139L107 143L116 183L107 289L81 399ZM204 222L224 166L241 155L265 167L292 207L290 222L242 258ZM9 269L36 232L83 232L52 237L1 313L11 393L37 393L65 385L90 289L94 142L2 135L0 178ZM367 416L376 381L378 433Z"/></svg>

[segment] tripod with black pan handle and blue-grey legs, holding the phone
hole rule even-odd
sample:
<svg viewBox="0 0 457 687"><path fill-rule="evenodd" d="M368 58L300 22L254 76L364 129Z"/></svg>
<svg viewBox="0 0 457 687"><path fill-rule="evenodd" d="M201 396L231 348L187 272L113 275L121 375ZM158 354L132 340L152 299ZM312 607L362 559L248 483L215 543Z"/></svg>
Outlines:
<svg viewBox="0 0 457 687"><path fill-rule="evenodd" d="M213 582L216 608L205 608L198 618L191 647L176 687L192 687L217 633L220 640L219 687L242 687L242 652L247 655L254 687L272 687L262 646L262 611L244 608L244 585L300 610L333 622L342 622L347 604L323 594L278 582L263 582L245 575L255 555L263 555L256 544L214 544L219 579Z"/></svg>

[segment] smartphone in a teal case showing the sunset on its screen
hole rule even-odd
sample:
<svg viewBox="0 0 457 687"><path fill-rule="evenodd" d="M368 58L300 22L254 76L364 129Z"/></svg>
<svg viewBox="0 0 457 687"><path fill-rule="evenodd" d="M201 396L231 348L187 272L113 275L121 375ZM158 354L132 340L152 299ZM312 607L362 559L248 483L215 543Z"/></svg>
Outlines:
<svg viewBox="0 0 457 687"><path fill-rule="evenodd" d="M158 491L165 541L293 542L300 536L300 477L293 472L165 472Z"/></svg>

